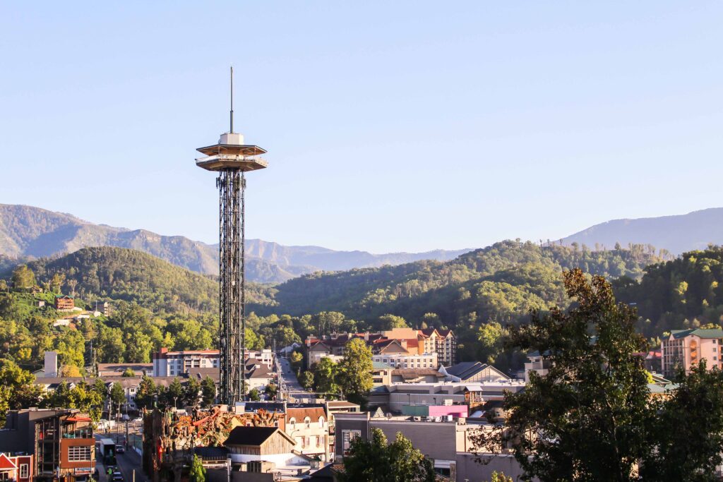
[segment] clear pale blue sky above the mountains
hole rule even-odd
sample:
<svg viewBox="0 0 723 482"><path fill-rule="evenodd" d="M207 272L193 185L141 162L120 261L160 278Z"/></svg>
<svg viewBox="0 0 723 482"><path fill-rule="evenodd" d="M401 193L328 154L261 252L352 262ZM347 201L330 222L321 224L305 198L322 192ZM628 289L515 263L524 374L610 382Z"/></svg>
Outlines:
<svg viewBox="0 0 723 482"><path fill-rule="evenodd" d="M0 202L215 242L422 251L723 205L723 3L5 2Z"/></svg>

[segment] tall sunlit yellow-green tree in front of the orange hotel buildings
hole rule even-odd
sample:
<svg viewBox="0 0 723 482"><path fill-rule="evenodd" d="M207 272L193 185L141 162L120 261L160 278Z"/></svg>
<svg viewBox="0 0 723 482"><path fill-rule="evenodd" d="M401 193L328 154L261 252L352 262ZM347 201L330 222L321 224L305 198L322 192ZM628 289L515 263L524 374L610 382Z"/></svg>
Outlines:
<svg viewBox="0 0 723 482"><path fill-rule="evenodd" d="M347 400L364 405L372 390L372 350L367 343L354 338L346 343L344 358L339 362L339 384Z"/></svg>

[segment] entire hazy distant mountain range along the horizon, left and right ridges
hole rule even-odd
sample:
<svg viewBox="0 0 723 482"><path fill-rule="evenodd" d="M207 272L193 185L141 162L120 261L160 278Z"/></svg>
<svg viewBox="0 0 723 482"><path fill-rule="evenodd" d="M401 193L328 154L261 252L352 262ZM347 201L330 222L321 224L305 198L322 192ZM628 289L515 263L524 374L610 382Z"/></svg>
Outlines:
<svg viewBox="0 0 723 482"><path fill-rule="evenodd" d="M723 208L660 218L611 220L559 240L565 245L612 249L615 244L650 244L672 254L723 244ZM208 275L218 273L218 244L163 236L145 229L114 228L74 215L25 205L0 205L0 267L18 259L52 257L89 246L137 249L172 264ZM335 251L321 246L283 246L247 240L247 276L257 283L282 283L319 271L398 265L422 260L448 261L471 249L437 249L424 253L372 254Z"/></svg>

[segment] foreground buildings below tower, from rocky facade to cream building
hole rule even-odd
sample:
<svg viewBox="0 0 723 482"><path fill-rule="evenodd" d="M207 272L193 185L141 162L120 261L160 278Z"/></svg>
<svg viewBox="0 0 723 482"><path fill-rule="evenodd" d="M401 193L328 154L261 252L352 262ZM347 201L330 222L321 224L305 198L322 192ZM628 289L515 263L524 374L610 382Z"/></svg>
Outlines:
<svg viewBox="0 0 723 482"><path fill-rule="evenodd" d="M241 481L307 478L334 459L335 416L358 411L359 405L327 400L154 410L144 423L143 465L148 473L180 480L197 455L209 480L229 472Z"/></svg>

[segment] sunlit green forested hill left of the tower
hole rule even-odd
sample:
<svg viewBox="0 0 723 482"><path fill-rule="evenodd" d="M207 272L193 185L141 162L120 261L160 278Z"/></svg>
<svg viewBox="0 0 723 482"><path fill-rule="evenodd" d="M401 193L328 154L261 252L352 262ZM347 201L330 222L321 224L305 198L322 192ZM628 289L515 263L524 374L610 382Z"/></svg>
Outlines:
<svg viewBox="0 0 723 482"><path fill-rule="evenodd" d="M251 301L273 303L272 288L248 287ZM74 296L75 306L91 314L94 301L109 301L113 312L73 319L78 312L53 308L59 294ZM54 323L62 318L67 326ZM218 281L141 251L80 249L20 265L0 280L0 358L27 369L41 366L45 350L57 350L64 372L78 374L94 359L148 362L162 347L208 349L217 338ZM247 346L265 343L247 330Z"/></svg>

